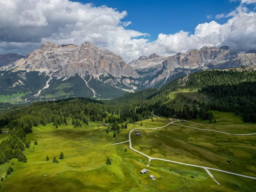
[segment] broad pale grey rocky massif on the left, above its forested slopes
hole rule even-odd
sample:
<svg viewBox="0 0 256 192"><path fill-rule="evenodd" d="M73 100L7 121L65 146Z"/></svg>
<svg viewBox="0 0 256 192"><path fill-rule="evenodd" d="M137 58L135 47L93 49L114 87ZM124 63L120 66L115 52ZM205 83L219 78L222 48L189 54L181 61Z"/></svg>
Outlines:
<svg viewBox="0 0 256 192"><path fill-rule="evenodd" d="M94 76L98 79L101 75L109 74L115 78L139 77L121 56L90 45L90 42L81 46L45 42L39 49L9 67L12 71L40 71L52 74L52 77L57 79L75 74L81 77Z"/></svg>

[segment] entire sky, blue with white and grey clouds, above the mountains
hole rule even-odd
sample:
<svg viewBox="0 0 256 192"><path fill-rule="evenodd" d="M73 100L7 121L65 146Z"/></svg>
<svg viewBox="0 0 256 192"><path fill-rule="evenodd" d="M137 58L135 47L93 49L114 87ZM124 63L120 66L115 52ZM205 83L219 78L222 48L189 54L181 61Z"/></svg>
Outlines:
<svg viewBox="0 0 256 192"><path fill-rule="evenodd" d="M50 41L103 47L129 63L203 46L256 49L256 0L0 0L0 54Z"/></svg>

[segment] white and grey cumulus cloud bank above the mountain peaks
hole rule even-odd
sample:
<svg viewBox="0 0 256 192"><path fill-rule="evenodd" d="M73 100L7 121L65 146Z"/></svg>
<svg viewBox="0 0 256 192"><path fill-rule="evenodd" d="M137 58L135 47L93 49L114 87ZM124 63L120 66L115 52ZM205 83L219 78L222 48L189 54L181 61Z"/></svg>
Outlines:
<svg viewBox="0 0 256 192"><path fill-rule="evenodd" d="M150 42L149 34L128 30L132 21L123 22L126 11L69 0L0 0L0 53L25 55L45 41L81 45L89 41L104 47L126 62L152 53L170 56L203 46L227 45L234 51L247 51L256 46L256 13L242 0L240 6L215 18L229 18L198 24L193 33L179 31L160 33ZM211 18L211 15L209 15Z"/></svg>

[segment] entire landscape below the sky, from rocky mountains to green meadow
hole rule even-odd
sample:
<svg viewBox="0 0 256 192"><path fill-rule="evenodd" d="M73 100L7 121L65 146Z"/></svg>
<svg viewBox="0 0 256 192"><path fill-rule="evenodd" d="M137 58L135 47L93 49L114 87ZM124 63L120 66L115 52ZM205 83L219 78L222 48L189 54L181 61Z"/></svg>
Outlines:
<svg viewBox="0 0 256 192"><path fill-rule="evenodd" d="M0 71L0 190L254 191L254 61L214 69L253 54L152 54L135 71L89 42L44 43Z"/></svg>

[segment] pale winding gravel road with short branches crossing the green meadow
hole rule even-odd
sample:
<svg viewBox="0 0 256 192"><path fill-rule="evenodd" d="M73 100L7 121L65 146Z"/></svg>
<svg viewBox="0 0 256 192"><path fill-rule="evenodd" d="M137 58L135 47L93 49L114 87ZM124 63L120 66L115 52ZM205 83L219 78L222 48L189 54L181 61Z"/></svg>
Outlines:
<svg viewBox="0 0 256 192"><path fill-rule="evenodd" d="M168 123L167 125L163 126L163 127L167 127L168 125L170 124L174 124L174 125L180 125L180 124L176 124L174 122L177 122L177 121L180 121L179 119L177 119L176 121L172 121L170 123ZM180 125L180 126L183 126L183 127L189 127L189 126L185 126L185 125ZM126 143L126 142L129 142L130 145L130 149L141 154L141 155L144 155L146 157L148 157L148 165L147 167L150 165L150 162L152 159L156 159L156 160L160 160L160 161L168 161L168 162L171 162L171 163L177 163L177 164L180 164L180 165L188 165L188 166L192 166L192 167L200 167L204 170L206 170L206 172L209 174L209 176L211 176L211 178L213 179L213 181L215 181L218 185L220 185L220 183L218 181L216 181L216 179L214 179L213 175L210 173L209 170L214 170L214 171L219 171L219 172L223 172L223 173L228 173L228 174L232 174L232 175L236 175L236 176L242 176L242 177L246 177L246 178L249 178L249 179L256 179L256 177L253 177L253 176L247 176L247 175L242 175L242 174L237 174L237 173L233 173L233 172L229 172L229 171L225 171L225 170L219 170L219 169L215 169L215 168L211 168L211 167L204 167L204 166L200 166L200 165L193 165L193 164L188 164L188 163L181 163L181 162L177 162L177 161L171 161L171 160L168 160L168 159L160 159L160 158L155 158L155 157L151 157L151 156L148 156L147 154L144 154L138 150L135 150L132 148L132 141L131 141L131 134L134 130L136 129L159 129L159 128L163 128L163 127L155 127L155 128L143 128L143 127L140 127L140 128L135 128L135 129L132 129L130 132L129 132L129 140L128 141L124 141L124 142L121 142L121 143ZM189 128L193 128L193 129L200 129L200 128L196 128L196 127L189 127ZM214 131L214 130L209 130L209 129L200 129L202 131L211 131L211 132L218 132L218 133L222 133L222 134L229 134L229 135L237 135L237 136L240 136L240 135L254 135L256 133L251 133L251 134L231 134L231 133L226 133L226 132L220 132L220 131ZM113 145L118 145L118 144L121 144L121 143L115 143Z"/></svg>

